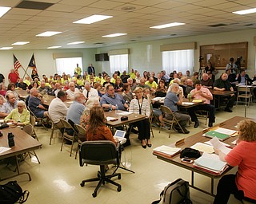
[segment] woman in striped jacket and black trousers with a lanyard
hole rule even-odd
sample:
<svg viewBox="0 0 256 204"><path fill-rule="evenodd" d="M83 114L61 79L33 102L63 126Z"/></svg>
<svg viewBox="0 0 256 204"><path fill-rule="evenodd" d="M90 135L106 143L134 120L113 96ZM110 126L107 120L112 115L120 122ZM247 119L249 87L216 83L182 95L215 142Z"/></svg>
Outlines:
<svg viewBox="0 0 256 204"><path fill-rule="evenodd" d="M144 79L143 79L144 80ZM130 101L129 112L134 112L140 115L147 116L146 119L140 120L132 126L138 127L138 139L142 142L142 147L146 149L146 145L151 147L150 141L150 104L148 100L143 97L143 89L138 87L135 88L134 93L136 94L136 98Z"/></svg>

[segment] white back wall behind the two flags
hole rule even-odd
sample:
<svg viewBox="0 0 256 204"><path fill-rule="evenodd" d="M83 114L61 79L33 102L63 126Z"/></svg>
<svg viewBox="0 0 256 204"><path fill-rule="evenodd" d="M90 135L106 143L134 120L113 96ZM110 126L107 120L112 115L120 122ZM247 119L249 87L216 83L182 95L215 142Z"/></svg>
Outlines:
<svg viewBox="0 0 256 204"><path fill-rule="evenodd" d="M90 63L95 64L95 52L96 49L2 50L0 51L0 73L6 77L7 81L10 69L14 69L13 54L17 57L23 68L26 69L33 53L40 78L42 78L42 74L46 74L49 77L56 73L53 53L82 53L83 69L87 70ZM70 67L71 73L74 73L75 67L76 65ZM95 69L97 70L97 66L95 66ZM32 69L28 69L28 74L31 74L31 71ZM23 77L25 72L20 68L18 73L20 77Z"/></svg>

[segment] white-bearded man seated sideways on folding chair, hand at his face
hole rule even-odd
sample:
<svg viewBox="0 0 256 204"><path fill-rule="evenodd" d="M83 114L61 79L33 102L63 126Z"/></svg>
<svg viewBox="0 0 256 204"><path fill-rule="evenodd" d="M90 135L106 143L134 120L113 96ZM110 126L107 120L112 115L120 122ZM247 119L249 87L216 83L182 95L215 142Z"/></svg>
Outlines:
<svg viewBox="0 0 256 204"><path fill-rule="evenodd" d="M178 120L178 123L182 127L182 129L180 129L178 125L175 125L174 130L178 131L179 133L183 133L184 131L185 134L188 134L190 133L190 131L186 130L185 127L186 127L186 123L190 120L190 116L178 112L178 105L182 104L182 101L183 101L182 90L179 88L178 84L176 83L171 84L170 92L167 92L166 94L164 105L170 108L170 110L174 113L174 116ZM172 120L172 116L165 116L165 117L167 120Z"/></svg>

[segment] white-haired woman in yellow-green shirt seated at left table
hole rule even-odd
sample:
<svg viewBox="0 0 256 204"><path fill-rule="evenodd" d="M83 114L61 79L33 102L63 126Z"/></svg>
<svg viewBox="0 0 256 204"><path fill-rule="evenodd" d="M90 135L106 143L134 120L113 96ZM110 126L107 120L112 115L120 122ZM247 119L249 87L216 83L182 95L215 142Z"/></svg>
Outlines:
<svg viewBox="0 0 256 204"><path fill-rule="evenodd" d="M14 108L4 119L6 123L11 122L14 125L25 126L30 124L30 112L26 109L23 100L17 102L17 108Z"/></svg>

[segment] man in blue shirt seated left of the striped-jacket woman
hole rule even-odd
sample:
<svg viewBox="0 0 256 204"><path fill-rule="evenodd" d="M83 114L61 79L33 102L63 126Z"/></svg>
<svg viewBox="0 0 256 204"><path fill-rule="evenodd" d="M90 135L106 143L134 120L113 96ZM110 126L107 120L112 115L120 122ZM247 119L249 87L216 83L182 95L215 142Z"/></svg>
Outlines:
<svg viewBox="0 0 256 204"><path fill-rule="evenodd" d="M102 96L101 105L103 108L115 110L118 105L118 110L126 111L128 105L121 95L114 92L113 85L106 86L106 94Z"/></svg>

